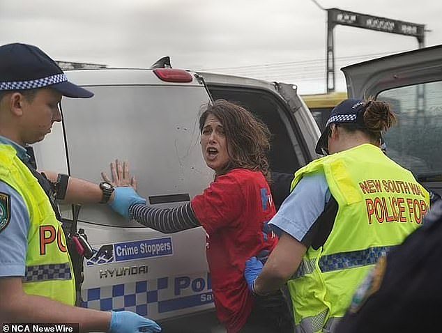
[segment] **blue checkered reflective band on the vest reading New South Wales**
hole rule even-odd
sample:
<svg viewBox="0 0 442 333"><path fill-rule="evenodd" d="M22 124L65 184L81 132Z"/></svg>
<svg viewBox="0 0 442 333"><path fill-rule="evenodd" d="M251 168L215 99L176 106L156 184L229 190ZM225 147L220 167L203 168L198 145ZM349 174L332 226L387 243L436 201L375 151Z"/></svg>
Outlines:
<svg viewBox="0 0 442 333"><path fill-rule="evenodd" d="M347 268L356 268L367 265L374 265L381 256L385 256L391 247L370 247L360 251L342 252L329 254L319 259L319 268L321 272L333 272L335 270L345 270ZM314 261L303 260L292 279L303 277L306 274L314 272Z"/></svg>

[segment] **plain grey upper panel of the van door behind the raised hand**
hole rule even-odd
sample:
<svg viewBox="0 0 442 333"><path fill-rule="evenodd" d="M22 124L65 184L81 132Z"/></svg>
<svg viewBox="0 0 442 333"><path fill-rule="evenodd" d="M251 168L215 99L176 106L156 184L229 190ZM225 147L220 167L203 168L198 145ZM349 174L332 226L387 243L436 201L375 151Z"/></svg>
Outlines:
<svg viewBox="0 0 442 333"><path fill-rule="evenodd" d="M68 165L73 176L100 183L100 171L110 175L109 162L119 158L130 162L138 192L145 198L192 198L211 183L213 171L204 163L199 145L199 111L202 104L208 103L203 87L88 89L95 96L87 107L75 98L63 100L62 105ZM111 210L96 206L84 207L81 217L97 224L132 226Z"/></svg>

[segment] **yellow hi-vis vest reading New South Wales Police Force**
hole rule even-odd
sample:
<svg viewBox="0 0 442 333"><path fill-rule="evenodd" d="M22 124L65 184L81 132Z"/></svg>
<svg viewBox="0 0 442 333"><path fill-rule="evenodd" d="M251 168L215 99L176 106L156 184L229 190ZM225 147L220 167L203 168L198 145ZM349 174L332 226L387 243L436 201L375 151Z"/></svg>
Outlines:
<svg viewBox="0 0 442 333"><path fill-rule="evenodd" d="M371 144L311 162L295 173L291 189L316 172L325 174L339 209L323 247L307 249L288 281L296 332L307 333L333 332L367 272L420 226L429 207L411 172Z"/></svg>

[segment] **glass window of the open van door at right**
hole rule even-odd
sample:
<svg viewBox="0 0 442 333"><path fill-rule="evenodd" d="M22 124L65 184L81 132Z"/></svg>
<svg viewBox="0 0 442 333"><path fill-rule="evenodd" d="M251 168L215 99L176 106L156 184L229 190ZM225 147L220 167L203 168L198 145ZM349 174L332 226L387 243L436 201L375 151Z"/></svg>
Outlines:
<svg viewBox="0 0 442 333"><path fill-rule="evenodd" d="M442 82L383 91L378 100L390 102L398 124L386 135L387 153L420 180L442 173Z"/></svg>

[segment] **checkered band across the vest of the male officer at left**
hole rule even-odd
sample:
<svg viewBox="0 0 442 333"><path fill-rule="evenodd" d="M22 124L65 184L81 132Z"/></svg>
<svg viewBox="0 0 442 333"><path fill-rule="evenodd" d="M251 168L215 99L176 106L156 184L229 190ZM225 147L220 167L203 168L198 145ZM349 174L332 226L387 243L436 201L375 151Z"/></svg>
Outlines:
<svg viewBox="0 0 442 333"><path fill-rule="evenodd" d="M69 263L58 263L49 265L26 266L24 282L48 281L48 280L70 280Z"/></svg>

